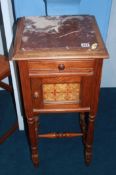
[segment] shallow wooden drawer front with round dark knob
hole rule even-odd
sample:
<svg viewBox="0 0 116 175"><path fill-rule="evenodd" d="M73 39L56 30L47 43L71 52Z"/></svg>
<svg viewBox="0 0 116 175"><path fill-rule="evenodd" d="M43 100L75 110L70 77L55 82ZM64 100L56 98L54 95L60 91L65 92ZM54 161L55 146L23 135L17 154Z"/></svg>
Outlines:
<svg viewBox="0 0 116 175"><path fill-rule="evenodd" d="M93 73L94 60L78 61L28 61L30 75L53 73Z"/></svg>

